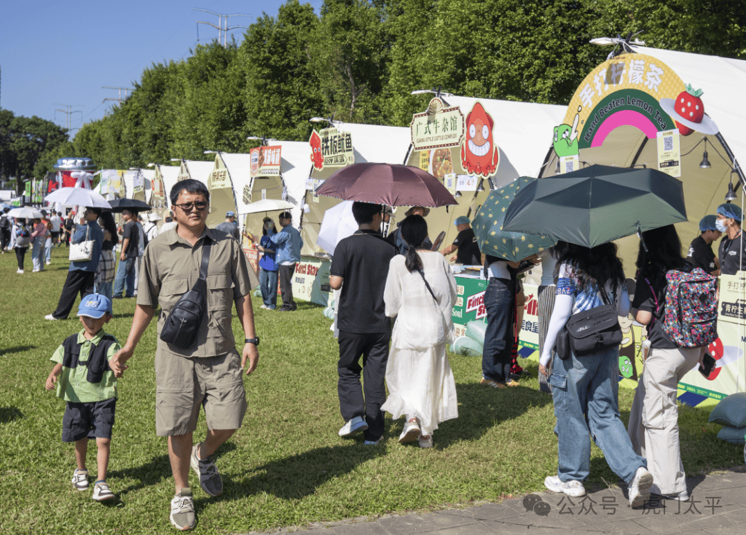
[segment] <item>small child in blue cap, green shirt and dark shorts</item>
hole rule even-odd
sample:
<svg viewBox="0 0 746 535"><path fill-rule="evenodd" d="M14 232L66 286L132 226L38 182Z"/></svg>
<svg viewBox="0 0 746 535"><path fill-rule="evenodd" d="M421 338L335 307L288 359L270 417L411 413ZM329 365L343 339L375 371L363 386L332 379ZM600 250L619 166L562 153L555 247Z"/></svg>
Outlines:
<svg viewBox="0 0 746 535"><path fill-rule="evenodd" d="M104 331L104 323L112 316L111 301L105 295L93 293L82 298L78 316L83 330L66 338L52 354L50 360L55 364L46 389L53 389L56 383L57 397L67 401L62 441L75 442L78 468L72 475L72 486L81 491L88 489L86 454L89 439L95 439L98 478L93 485L93 499L104 501L114 498L106 483L117 397L116 377L109 360L120 345Z"/></svg>

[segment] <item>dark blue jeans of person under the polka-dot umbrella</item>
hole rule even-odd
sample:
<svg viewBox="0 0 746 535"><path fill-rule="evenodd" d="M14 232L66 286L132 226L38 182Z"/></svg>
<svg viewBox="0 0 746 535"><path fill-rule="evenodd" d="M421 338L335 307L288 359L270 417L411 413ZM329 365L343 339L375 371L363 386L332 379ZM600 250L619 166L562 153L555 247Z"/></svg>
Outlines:
<svg viewBox="0 0 746 535"><path fill-rule="evenodd" d="M510 375L513 351L515 284L507 278L491 278L484 292L487 329L484 333L482 376L505 383Z"/></svg>

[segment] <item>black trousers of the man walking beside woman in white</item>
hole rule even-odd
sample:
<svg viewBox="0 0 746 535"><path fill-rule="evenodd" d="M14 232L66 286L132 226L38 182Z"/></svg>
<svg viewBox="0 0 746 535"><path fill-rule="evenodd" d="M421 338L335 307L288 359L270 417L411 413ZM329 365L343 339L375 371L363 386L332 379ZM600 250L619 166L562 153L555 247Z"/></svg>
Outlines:
<svg viewBox="0 0 746 535"><path fill-rule="evenodd" d="M368 423L366 440L383 437L383 413L380 406L386 401L386 362L389 360L391 332L348 333L339 331L339 410L345 422L363 416ZM360 366L360 357L363 366ZM363 385L360 385L360 372ZM363 388L365 398L363 399Z"/></svg>

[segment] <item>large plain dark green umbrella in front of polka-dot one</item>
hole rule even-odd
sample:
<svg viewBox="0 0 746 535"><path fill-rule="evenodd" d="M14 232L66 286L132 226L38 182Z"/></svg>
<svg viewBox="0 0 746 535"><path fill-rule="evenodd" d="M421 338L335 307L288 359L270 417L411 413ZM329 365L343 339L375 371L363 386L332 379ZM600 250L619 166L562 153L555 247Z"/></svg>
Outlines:
<svg viewBox="0 0 746 535"><path fill-rule="evenodd" d="M528 184L510 203L503 228L595 247L686 219L676 178L656 169L594 165Z"/></svg>

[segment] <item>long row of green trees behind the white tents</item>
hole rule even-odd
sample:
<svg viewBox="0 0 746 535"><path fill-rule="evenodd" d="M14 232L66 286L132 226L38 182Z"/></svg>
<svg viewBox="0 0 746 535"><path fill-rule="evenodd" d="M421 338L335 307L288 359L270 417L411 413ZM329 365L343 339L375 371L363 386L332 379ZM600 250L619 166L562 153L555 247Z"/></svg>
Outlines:
<svg viewBox="0 0 746 535"><path fill-rule="evenodd" d="M425 104L411 91L438 86L566 104L608 52L590 45L593 37L644 30L648 46L746 58L745 7L745 0L325 0L317 15L287 0L240 44L215 40L185 60L151 65L130 98L72 143L59 128L24 118L22 128L34 134L13 142L22 155L13 160L4 143L12 114L0 110L0 173L12 166L22 176L42 174L48 169L34 166L54 162L43 154L118 169L206 159L204 150L247 151L256 145L248 136L307 140L313 116L404 126Z"/></svg>

